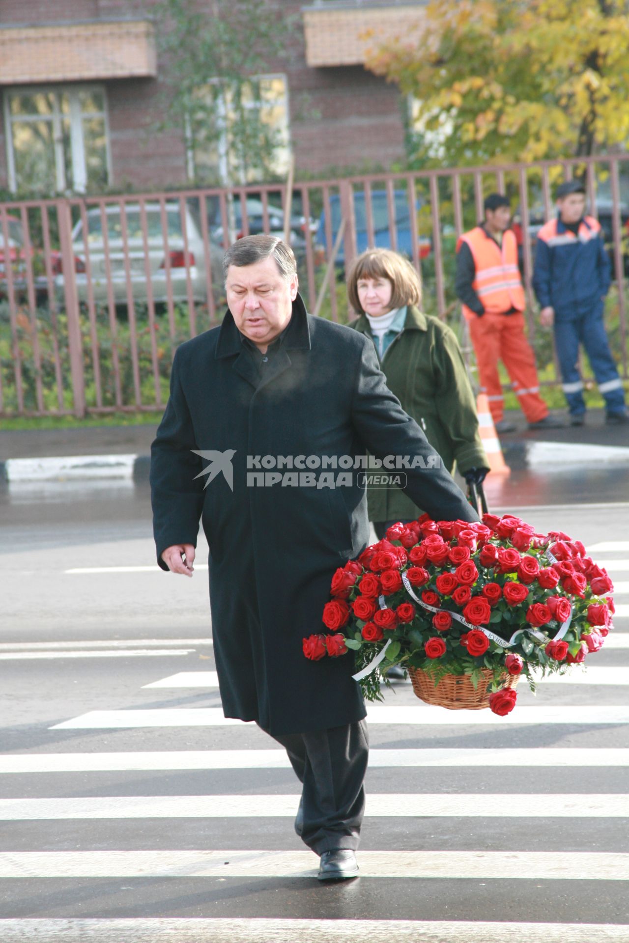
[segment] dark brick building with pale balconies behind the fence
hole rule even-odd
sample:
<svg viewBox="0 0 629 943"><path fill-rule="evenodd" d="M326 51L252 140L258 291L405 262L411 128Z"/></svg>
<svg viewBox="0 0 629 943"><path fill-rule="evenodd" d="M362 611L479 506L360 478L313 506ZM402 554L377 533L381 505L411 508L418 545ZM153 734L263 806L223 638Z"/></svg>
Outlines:
<svg viewBox="0 0 629 943"><path fill-rule="evenodd" d="M401 95L363 61L369 42L421 23L423 0L271 2L296 14L268 89L297 171L388 168L404 157ZM158 188L200 178L203 159L181 132L152 130L167 77L154 3L0 0L0 188Z"/></svg>

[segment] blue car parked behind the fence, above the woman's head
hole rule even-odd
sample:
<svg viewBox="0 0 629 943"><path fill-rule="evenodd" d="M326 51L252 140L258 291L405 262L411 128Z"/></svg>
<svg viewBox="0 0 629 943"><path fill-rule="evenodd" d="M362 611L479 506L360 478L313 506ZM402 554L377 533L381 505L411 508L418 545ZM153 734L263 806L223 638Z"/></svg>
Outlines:
<svg viewBox="0 0 629 943"><path fill-rule="evenodd" d="M410 227L408 193L406 190L395 190L393 196L397 250L398 252L404 253L404 255L408 256L409 258L412 258L413 241ZM416 210L419 210L421 206L421 201L418 200L415 205ZM330 197L330 215L332 222L332 245L334 245L339 234L341 219L339 193L334 193ZM390 249L391 238L389 234L389 203L387 200L386 190L372 190L372 218L373 240L376 247L379 249ZM358 190L354 194L354 219L356 225L356 251L361 253L364 252L365 249L367 249L369 246L367 231L367 207L365 204L365 193L363 190ZM323 247L323 250L327 250L327 242L325 239L325 215L323 210L319 219L319 228L317 230L316 240L318 245ZM426 236L421 236L419 239L419 250L420 258L429 256L432 250L432 241ZM325 254L327 255L327 252L325 252ZM339 253L337 255L335 264L337 267L345 264L343 242L340 244Z"/></svg>

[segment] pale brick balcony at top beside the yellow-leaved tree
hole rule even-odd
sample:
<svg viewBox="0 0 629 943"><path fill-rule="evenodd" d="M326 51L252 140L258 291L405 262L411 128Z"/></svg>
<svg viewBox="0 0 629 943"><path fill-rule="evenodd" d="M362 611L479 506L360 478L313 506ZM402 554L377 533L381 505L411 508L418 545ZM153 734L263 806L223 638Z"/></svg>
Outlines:
<svg viewBox="0 0 629 943"><path fill-rule="evenodd" d="M421 26L425 0L318 0L303 8L309 66L363 65L378 42Z"/></svg>

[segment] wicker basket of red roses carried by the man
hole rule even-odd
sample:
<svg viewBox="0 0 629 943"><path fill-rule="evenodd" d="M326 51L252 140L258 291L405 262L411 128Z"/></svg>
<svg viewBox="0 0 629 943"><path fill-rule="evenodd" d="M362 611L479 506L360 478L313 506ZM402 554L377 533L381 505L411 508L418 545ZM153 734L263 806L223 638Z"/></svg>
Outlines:
<svg viewBox="0 0 629 943"><path fill-rule="evenodd" d="M399 664L422 701L505 715L522 675L535 690L602 647L612 590L566 534L538 534L508 514L474 523L424 514L336 571L327 632L305 638L304 653L317 661L354 651L370 701L382 700L381 682Z"/></svg>

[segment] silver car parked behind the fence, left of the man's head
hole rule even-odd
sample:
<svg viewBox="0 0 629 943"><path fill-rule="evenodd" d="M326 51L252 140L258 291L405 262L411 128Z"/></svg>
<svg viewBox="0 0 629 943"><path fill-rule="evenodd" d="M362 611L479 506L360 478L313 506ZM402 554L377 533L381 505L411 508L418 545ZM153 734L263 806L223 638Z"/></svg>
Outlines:
<svg viewBox="0 0 629 943"><path fill-rule="evenodd" d="M174 302L188 300L188 276L192 297L201 304L207 301L207 275L205 266L205 247L200 226L195 222L190 207L185 210L186 234L188 237L188 268L179 203L167 203L166 223L168 234L168 257L170 261L171 284ZM167 274L166 254L163 237L161 211L158 203L146 203L146 237L148 244L150 282L153 300L157 303L166 302ZM111 287L116 305L124 305L127 301L127 280L124 265L124 240L120 206L112 204L106 207L108 257L111 273ZM133 300L146 302L146 267L144 240L141 228L141 210L139 204L126 204L125 218L127 229L127 249L130 269L130 284ZM87 213L88 219L88 249L91 265L91 285L94 301L105 304L108 300L107 265L105 242L103 239L103 223L100 207L92 207ZM83 222L75 224L72 233L74 253L74 273L76 291L81 302L88 300L88 276L86 272L86 248L84 241ZM214 296L218 300L223 295L223 248L209 238L209 255ZM63 273L61 260L58 260L58 275L56 283L59 290L63 289Z"/></svg>

